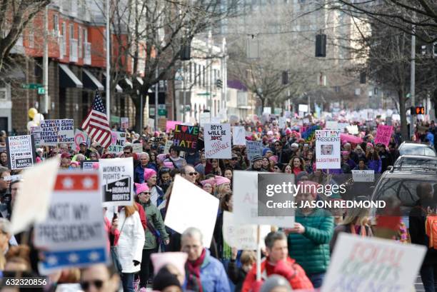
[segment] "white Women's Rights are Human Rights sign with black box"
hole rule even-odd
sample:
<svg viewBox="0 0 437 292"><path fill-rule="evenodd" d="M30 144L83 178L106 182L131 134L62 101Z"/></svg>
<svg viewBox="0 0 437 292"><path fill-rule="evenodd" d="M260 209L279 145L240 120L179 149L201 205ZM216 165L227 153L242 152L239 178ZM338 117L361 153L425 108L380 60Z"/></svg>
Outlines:
<svg viewBox="0 0 437 292"><path fill-rule="evenodd" d="M129 158L99 160L104 206L131 206L134 201L134 162Z"/></svg>

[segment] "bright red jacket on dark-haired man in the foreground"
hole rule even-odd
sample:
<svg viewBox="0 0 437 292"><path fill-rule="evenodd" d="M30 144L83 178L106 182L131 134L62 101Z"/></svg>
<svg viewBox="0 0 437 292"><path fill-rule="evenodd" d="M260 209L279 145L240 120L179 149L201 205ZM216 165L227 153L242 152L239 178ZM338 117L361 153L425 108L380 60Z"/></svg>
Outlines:
<svg viewBox="0 0 437 292"><path fill-rule="evenodd" d="M290 283L291 288L295 289L313 289L313 284L306 276L303 268L296 263L293 258L287 257L286 267L289 268L287 274L291 274L292 276L286 276L284 273L277 273L276 266L268 263L268 258L264 258L261 261L261 279L263 281L273 274L278 274L284 276L288 279L288 283ZM247 273L246 279L243 283L243 288L241 288L241 292L249 292L252 291L253 283L256 282L256 263L253 264L251 271Z"/></svg>

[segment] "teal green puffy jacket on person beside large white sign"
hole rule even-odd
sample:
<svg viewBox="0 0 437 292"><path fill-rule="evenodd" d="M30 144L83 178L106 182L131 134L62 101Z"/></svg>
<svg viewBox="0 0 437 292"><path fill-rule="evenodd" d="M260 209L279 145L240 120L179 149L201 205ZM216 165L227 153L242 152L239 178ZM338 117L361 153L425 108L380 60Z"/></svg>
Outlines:
<svg viewBox="0 0 437 292"><path fill-rule="evenodd" d="M316 209L308 216L296 211L296 223L301 223L305 232L288 234L288 254L307 274L325 273L329 265L333 217L321 209Z"/></svg>

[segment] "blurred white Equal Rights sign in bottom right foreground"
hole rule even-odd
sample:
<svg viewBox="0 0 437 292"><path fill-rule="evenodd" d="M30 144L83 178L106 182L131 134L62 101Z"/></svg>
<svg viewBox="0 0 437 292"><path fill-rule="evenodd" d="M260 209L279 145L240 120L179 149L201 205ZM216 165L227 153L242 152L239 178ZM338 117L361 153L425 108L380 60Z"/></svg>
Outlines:
<svg viewBox="0 0 437 292"><path fill-rule="evenodd" d="M321 292L409 292L426 246L339 233Z"/></svg>

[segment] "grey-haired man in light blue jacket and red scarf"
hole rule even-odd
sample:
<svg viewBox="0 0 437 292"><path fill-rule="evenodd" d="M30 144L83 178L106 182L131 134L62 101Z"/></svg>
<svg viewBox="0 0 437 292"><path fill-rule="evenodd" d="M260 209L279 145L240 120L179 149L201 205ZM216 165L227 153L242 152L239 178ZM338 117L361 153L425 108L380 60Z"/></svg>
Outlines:
<svg viewBox="0 0 437 292"><path fill-rule="evenodd" d="M230 292L223 264L204 248L199 229L188 228L182 233L181 251L188 254L186 261L186 289L203 292Z"/></svg>

